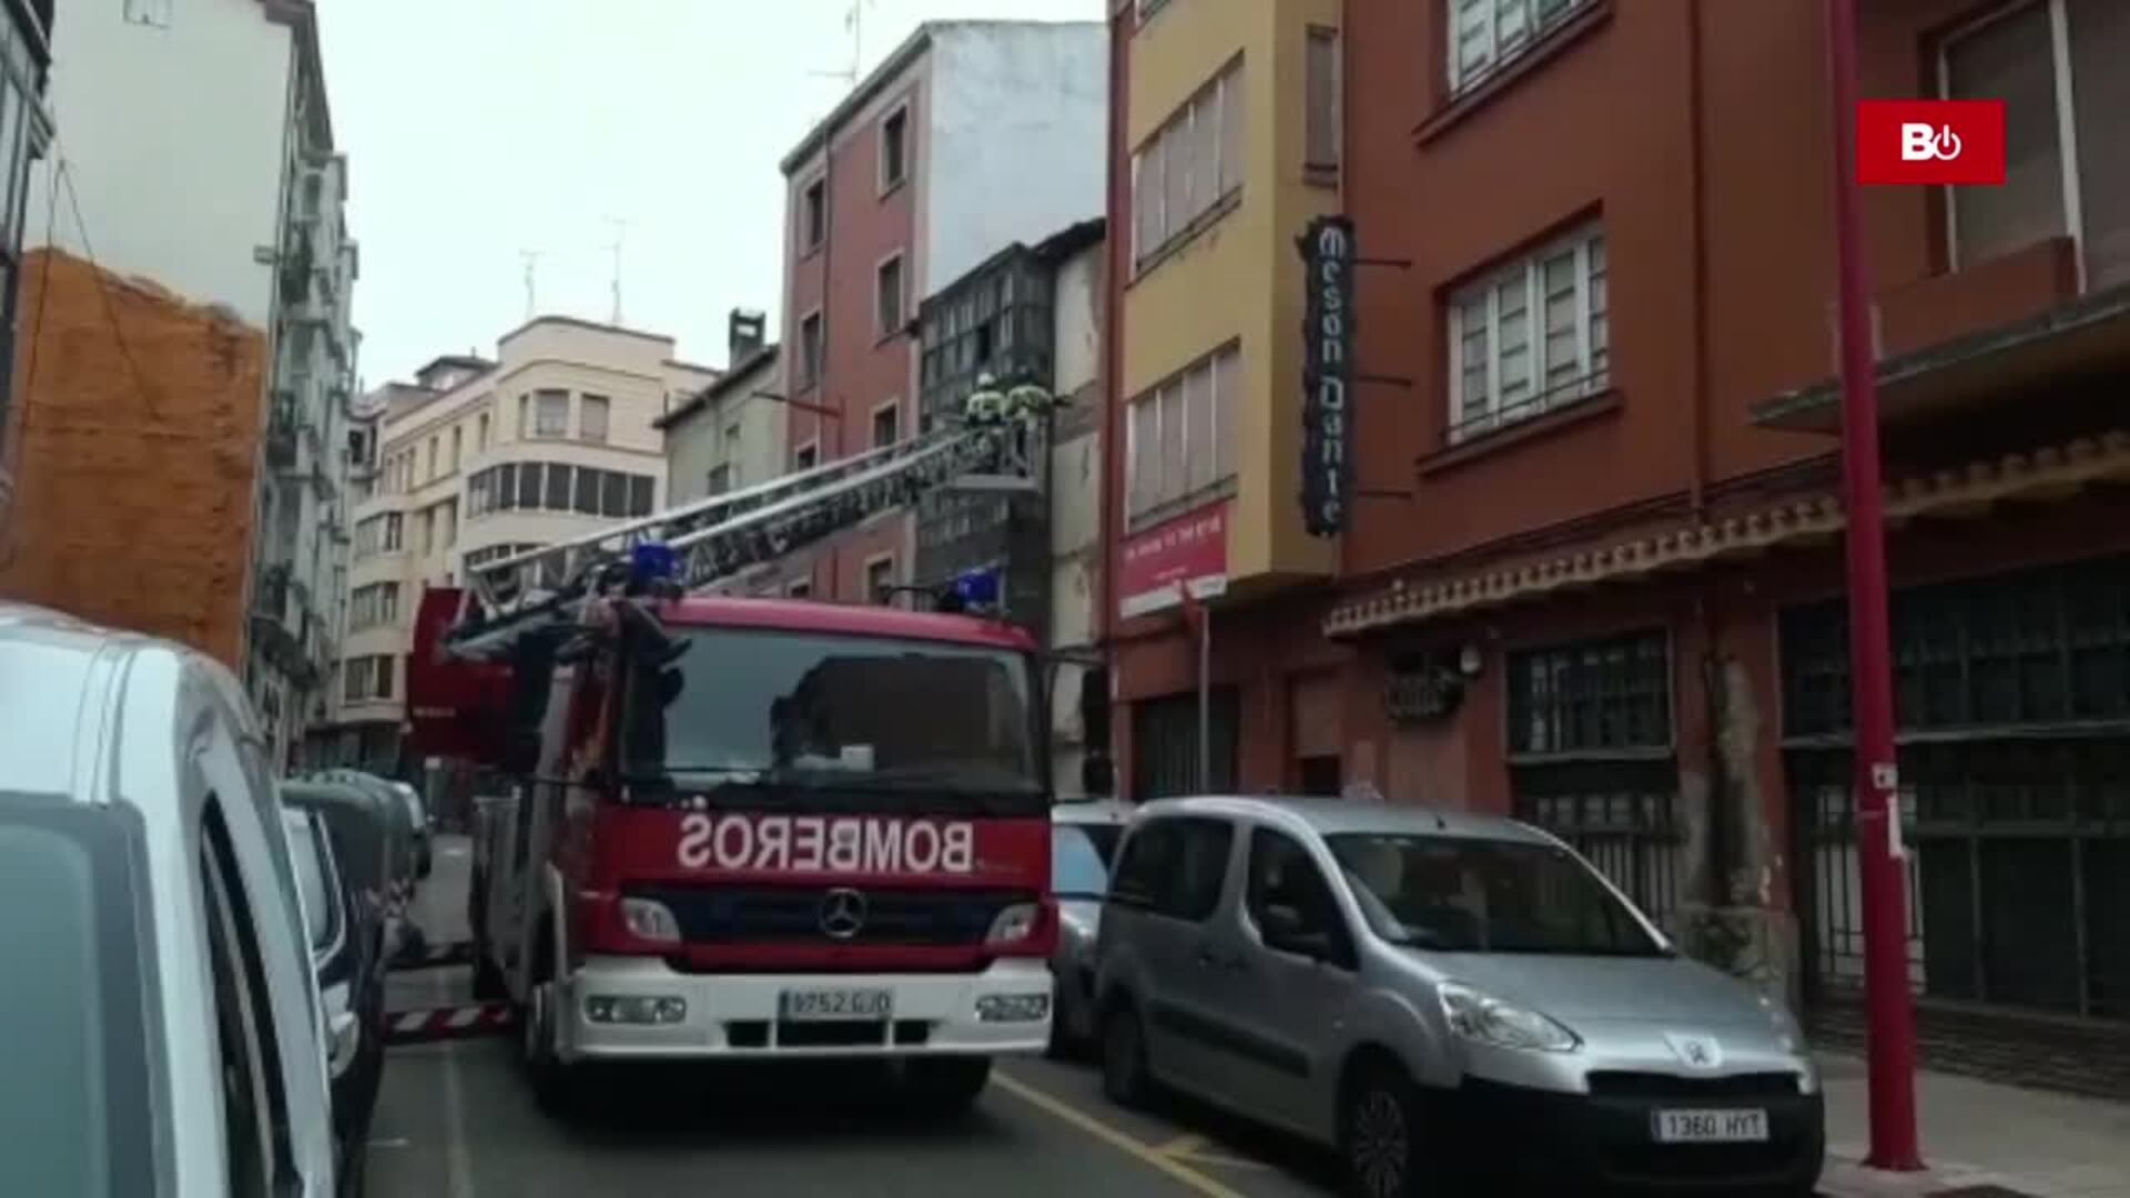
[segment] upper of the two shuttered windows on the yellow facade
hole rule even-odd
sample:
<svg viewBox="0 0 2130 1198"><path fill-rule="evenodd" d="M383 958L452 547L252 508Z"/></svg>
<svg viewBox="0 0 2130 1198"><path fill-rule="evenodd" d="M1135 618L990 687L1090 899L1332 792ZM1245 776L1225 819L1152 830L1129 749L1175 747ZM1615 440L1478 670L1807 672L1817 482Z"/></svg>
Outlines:
<svg viewBox="0 0 2130 1198"><path fill-rule="evenodd" d="M1199 228L1242 188L1242 60L1199 90L1131 158L1133 260Z"/></svg>

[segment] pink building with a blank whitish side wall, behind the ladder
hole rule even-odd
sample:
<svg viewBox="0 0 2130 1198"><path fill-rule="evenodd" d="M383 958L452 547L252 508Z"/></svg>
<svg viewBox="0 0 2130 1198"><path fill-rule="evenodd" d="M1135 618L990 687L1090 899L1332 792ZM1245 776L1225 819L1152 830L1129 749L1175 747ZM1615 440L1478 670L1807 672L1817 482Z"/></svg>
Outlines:
<svg viewBox="0 0 2130 1198"><path fill-rule="evenodd" d="M916 431L918 305L1016 241L1101 215L1099 23L931 21L786 156L790 469ZM907 584L914 518L784 565L794 593Z"/></svg>

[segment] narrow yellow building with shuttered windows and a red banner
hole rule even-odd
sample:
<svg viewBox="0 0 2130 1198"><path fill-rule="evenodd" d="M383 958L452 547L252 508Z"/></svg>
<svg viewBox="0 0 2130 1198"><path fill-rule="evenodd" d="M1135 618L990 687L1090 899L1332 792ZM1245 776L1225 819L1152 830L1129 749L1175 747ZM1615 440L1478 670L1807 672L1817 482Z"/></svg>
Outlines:
<svg viewBox="0 0 2130 1198"><path fill-rule="evenodd" d="M1261 778L1244 727L1297 710L1293 784L1336 791L1336 686L1265 676L1238 640L1321 642L1282 597L1327 582L1310 537L1299 428L1304 281L1295 241L1340 207L1338 0L1112 4L1110 495L1103 629L1125 793ZM1365 401L1363 401L1365 403ZM1199 776L1197 633L1214 629L1212 776ZM1323 652L1331 652L1325 648ZM1267 740L1269 738L1269 740ZM1276 750L1280 752L1280 750ZM1265 782L1261 782L1265 784Z"/></svg>

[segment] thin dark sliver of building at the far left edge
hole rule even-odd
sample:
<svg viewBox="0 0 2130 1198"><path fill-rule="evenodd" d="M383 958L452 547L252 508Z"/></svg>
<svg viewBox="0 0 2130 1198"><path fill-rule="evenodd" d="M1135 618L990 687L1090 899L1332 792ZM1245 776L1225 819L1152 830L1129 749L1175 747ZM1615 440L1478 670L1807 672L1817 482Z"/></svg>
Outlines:
<svg viewBox="0 0 2130 1198"><path fill-rule="evenodd" d="M45 102L51 72L51 0L9 0L0 6L0 535L6 531L15 473L9 469L15 428L15 362L21 328L23 222L30 209L30 162L51 149L53 119Z"/></svg>

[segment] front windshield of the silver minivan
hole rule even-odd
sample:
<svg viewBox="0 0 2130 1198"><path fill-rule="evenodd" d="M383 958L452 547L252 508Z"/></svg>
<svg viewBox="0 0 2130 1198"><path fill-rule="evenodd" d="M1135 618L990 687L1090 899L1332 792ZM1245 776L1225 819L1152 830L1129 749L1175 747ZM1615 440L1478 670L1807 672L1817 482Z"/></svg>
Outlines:
<svg viewBox="0 0 2130 1198"><path fill-rule="evenodd" d="M1438 953L1642 957L1666 949L1566 848L1521 840L1327 838L1378 936Z"/></svg>

